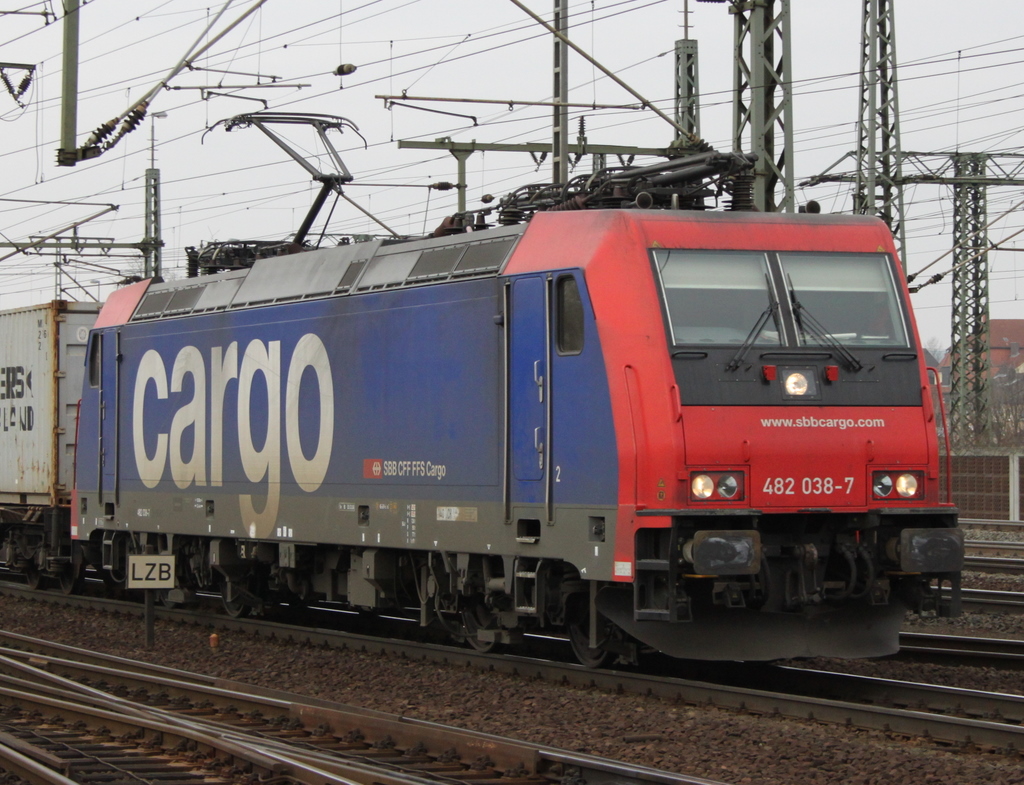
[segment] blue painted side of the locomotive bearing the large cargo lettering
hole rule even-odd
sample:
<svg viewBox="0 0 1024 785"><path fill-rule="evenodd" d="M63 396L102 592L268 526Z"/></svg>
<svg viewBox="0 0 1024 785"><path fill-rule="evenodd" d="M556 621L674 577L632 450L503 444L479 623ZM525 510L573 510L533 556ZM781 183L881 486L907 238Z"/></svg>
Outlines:
<svg viewBox="0 0 1024 785"><path fill-rule="evenodd" d="M539 289L543 305L540 276L510 286ZM117 512L109 519L94 506L83 525L145 529L159 517L147 503L122 510L108 500L115 492L217 499L214 516L183 507L174 529L180 533L267 537L286 527L290 536L316 541L331 541L330 528L319 527L334 525L339 500L497 508L507 404L510 421L529 437L512 440L511 500L543 505L534 432L519 423L535 417L535 402L547 405L525 346L531 333L543 342L544 311L516 312L522 337L513 338L511 353L526 359L513 374L524 392L513 390L507 401L503 294L494 277L100 329L90 356L99 369L82 409L104 413L82 420L77 484L83 498L99 491L96 500ZM117 362L103 361L115 354ZM554 401L553 459L583 452L606 460L589 461L585 473L559 473L556 501L614 506L614 444L596 336L581 355L559 359L552 373L584 384ZM544 440L538 434L537 444ZM308 500L301 516L291 499Z"/></svg>

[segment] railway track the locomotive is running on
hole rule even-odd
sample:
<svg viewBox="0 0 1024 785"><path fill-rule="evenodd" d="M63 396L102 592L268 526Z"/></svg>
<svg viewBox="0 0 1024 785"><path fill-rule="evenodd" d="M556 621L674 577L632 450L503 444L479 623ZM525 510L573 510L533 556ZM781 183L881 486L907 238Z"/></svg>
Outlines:
<svg viewBox="0 0 1024 785"><path fill-rule="evenodd" d="M13 590L0 591L8 593ZM46 599L62 602L79 598L48 594ZM131 603L122 603L119 611L141 614L139 606ZM716 675L716 681L712 683L671 675L593 670L575 664L507 654L482 654L447 646L382 640L351 633L300 628L255 619L197 616L178 611L161 611L160 615L215 629L278 636L291 639L296 644L349 648L460 668L482 668L555 684L652 695L682 704L713 705L750 713L811 718L907 737L930 738L949 744L1024 749L1024 697L1020 696L991 695L931 685L905 685L891 680L764 665L735 668L724 679L720 674ZM27 651L37 651L31 640L22 641L19 645ZM948 656L948 647L946 649ZM763 689L765 685L770 685L772 689Z"/></svg>

